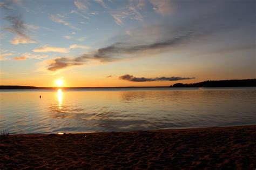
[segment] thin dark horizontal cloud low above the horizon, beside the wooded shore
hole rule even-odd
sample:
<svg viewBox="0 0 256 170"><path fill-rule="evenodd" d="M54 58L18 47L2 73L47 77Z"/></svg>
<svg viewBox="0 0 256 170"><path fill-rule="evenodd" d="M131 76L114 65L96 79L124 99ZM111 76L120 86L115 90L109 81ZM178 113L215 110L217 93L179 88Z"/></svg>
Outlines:
<svg viewBox="0 0 256 170"><path fill-rule="evenodd" d="M156 78L145 78L145 77L134 77L130 74L124 74L119 79L133 81L133 82L145 82L145 81L177 81L177 80L190 80L194 77L156 77Z"/></svg>

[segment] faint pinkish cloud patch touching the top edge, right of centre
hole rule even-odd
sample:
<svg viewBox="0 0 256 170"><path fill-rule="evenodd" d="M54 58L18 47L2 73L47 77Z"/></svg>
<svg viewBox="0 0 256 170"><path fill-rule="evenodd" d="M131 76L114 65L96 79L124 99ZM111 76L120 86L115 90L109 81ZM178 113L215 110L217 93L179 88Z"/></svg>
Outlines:
<svg viewBox="0 0 256 170"><path fill-rule="evenodd" d="M150 2L154 6L154 11L162 16L169 15L172 11L171 0L151 0Z"/></svg>

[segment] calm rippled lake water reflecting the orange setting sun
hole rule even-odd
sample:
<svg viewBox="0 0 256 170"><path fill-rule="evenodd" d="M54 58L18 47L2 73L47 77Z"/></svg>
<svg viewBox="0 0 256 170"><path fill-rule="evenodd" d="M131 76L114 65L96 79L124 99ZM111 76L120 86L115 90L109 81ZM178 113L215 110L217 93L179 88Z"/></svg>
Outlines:
<svg viewBox="0 0 256 170"><path fill-rule="evenodd" d="M255 88L1 90L0 99L10 133L256 124Z"/></svg>

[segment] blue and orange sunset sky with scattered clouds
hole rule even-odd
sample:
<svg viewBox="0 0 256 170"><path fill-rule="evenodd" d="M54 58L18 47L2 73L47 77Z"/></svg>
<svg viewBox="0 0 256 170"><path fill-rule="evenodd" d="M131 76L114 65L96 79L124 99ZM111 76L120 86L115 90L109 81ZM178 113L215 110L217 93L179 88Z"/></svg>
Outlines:
<svg viewBox="0 0 256 170"><path fill-rule="evenodd" d="M0 85L256 78L254 0L0 0Z"/></svg>

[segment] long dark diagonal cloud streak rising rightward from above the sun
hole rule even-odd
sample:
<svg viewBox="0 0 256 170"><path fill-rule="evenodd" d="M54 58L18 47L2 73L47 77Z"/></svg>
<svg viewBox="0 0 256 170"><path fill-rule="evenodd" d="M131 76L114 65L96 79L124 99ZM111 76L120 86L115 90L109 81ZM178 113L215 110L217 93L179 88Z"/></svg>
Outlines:
<svg viewBox="0 0 256 170"><path fill-rule="evenodd" d="M125 58L129 58L132 55L140 57L140 54L150 56L153 53L160 53L167 47L176 46L185 42L188 38L190 38L190 34L180 35L169 40L165 40L163 42L156 42L152 44L144 44L144 45L131 45L127 43L116 43L110 46L98 49L90 54L85 53L82 56L70 59L66 57L60 57L53 60L53 64L51 64L48 70L56 71L58 69L63 69L64 67L78 65L77 62L79 61L79 65L84 64L88 60L98 60L99 62L114 62L117 60L122 60ZM59 63L62 67L59 67ZM68 64L64 64L68 62ZM57 65L55 67L54 65ZM55 69L51 69L54 67Z"/></svg>

